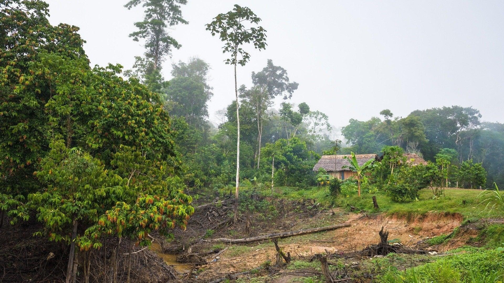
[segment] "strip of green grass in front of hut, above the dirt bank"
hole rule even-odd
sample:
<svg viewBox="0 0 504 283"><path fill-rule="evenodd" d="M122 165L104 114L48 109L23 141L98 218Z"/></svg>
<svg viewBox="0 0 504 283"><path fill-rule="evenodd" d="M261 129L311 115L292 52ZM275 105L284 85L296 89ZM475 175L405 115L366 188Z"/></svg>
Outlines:
<svg viewBox="0 0 504 283"><path fill-rule="evenodd" d="M309 189L296 189L292 187L281 187L281 197L288 199L316 199L323 204L331 204L331 197L325 187L312 187ZM486 203L481 203L478 198L480 190L457 190L447 189L445 196L438 199L432 199L430 189L421 189L419 191L419 200L394 202L384 193L376 194L376 201L380 207L379 210L373 208L372 194L363 192L361 197L357 195L338 196L334 200L334 205L349 209L349 205L368 213L389 213L400 216L424 215L427 212L434 213L458 213L465 219L481 218L503 218L504 209L485 210Z"/></svg>

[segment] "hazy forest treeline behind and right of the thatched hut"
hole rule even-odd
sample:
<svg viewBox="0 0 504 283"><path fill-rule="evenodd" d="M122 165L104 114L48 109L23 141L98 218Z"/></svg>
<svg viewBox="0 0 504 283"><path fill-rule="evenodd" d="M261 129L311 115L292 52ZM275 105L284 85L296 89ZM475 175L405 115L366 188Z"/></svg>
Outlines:
<svg viewBox="0 0 504 283"><path fill-rule="evenodd" d="M432 108L391 119L393 114L386 109L381 115L385 120L350 119L342 130L350 147L342 152L379 154L384 147L398 146L428 161L449 161L450 167L446 169L449 176L445 180L448 186L456 186L458 182L459 187L478 188L504 182L504 175L498 169L503 160L504 126L481 122L478 110L460 106Z"/></svg>

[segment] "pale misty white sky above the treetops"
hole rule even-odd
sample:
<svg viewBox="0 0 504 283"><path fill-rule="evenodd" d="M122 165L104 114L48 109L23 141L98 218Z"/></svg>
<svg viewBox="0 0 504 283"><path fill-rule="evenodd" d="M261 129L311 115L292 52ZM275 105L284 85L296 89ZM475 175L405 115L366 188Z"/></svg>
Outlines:
<svg viewBox="0 0 504 283"><path fill-rule="evenodd" d="M81 28L92 64L130 68L144 48L128 34L143 19L115 0L46 0L50 21ZM291 99L329 115L344 126L389 108L396 116L440 106L473 106L486 121L504 121L504 1L293 1L188 0L188 25L172 36L182 44L164 63L199 56L212 66L210 119L234 99L233 70L224 64L222 42L205 24L234 4L262 18L267 49L248 48L250 62L238 67L238 85L267 59L287 69L299 88Z"/></svg>

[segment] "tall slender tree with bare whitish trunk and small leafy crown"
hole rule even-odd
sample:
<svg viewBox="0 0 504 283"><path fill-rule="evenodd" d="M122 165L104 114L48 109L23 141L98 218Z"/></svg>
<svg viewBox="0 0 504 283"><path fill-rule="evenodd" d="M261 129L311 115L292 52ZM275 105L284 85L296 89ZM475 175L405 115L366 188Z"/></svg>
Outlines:
<svg viewBox="0 0 504 283"><path fill-rule="evenodd" d="M223 53L230 53L231 58L225 60L226 64L234 65L234 92L236 95L236 123L237 123L237 142L236 142L236 191L234 203L234 222L238 221L238 186L240 176L240 118L238 114L238 85L236 82L236 65L244 66L250 59L250 54L241 47L245 43L252 43L256 49L266 48L266 30L257 26L261 19L247 7L234 5L232 11L226 14L219 14L210 24L207 24L207 30L212 36L219 35L224 42ZM241 58L238 58L238 55Z"/></svg>

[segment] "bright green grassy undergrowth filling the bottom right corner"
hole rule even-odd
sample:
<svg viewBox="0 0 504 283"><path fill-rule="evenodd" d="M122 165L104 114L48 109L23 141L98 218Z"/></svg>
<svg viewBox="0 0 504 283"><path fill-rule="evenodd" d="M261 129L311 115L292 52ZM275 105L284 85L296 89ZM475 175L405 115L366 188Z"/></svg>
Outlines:
<svg viewBox="0 0 504 283"><path fill-rule="evenodd" d="M384 283L420 283L420 282L498 282L504 279L504 253L498 249L463 248L465 252L456 252L443 256L405 271L394 266L385 268L379 276Z"/></svg>

